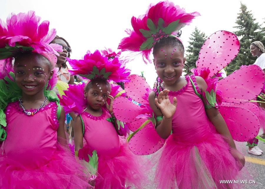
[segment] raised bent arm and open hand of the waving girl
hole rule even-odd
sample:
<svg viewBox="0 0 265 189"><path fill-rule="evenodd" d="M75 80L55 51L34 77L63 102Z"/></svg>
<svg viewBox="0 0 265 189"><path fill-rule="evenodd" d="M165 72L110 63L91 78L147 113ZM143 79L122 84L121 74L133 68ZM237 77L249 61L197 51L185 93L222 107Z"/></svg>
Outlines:
<svg viewBox="0 0 265 189"><path fill-rule="evenodd" d="M168 99L169 90L164 89L155 98L155 92L150 92L148 100L156 116L163 116L163 119L156 123L156 132L162 139L167 139L172 130L172 117L176 111L177 99L173 98L173 104ZM159 109L158 109L159 108Z"/></svg>

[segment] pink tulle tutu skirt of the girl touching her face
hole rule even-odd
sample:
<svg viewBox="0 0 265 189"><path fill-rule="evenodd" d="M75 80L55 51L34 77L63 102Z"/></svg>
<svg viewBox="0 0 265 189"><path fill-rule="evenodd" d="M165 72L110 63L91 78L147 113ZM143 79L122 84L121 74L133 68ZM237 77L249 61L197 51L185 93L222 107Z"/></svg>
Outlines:
<svg viewBox="0 0 265 189"><path fill-rule="evenodd" d="M130 151L124 139L120 139L120 145L120 152L112 159L98 158L98 174L102 179L96 179L96 189L125 189L132 185L142 188L145 176L140 167L141 158ZM92 155L86 145L79 150L78 156L88 162L87 153Z"/></svg>

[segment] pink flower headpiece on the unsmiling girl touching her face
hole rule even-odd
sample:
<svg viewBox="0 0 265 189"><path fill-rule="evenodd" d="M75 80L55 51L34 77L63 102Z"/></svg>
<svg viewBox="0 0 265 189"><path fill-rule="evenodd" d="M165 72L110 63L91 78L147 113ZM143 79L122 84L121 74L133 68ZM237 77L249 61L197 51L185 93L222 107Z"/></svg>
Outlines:
<svg viewBox="0 0 265 189"><path fill-rule="evenodd" d="M99 50L94 53L87 51L83 60L67 58L67 61L72 66L72 69L69 70L72 75L78 74L87 79L101 77L114 82L130 81L127 79L130 70L125 68L125 64L117 57L108 60L108 57L101 55Z"/></svg>

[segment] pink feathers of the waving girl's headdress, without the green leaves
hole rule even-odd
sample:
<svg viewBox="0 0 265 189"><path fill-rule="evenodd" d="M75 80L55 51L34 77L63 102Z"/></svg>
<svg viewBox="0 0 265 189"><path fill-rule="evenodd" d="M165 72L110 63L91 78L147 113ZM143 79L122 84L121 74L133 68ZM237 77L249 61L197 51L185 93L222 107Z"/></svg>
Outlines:
<svg viewBox="0 0 265 189"><path fill-rule="evenodd" d="M121 40L118 49L121 49L122 51L140 52L145 63L151 62L149 55L152 51L152 48L140 50L140 46L149 38L144 37L140 32L140 29L150 30L147 27L148 19L153 21L156 28L158 27L159 18L164 20L163 27L167 27L170 23L179 20L179 25L174 31L176 32L185 25L189 25L191 21L199 15L200 14L198 12L187 13L184 9L180 8L180 6L174 5L173 2L169 1L161 1L155 5L151 4L145 15L141 15L138 18L132 17L131 24L133 30L126 30L129 36Z"/></svg>

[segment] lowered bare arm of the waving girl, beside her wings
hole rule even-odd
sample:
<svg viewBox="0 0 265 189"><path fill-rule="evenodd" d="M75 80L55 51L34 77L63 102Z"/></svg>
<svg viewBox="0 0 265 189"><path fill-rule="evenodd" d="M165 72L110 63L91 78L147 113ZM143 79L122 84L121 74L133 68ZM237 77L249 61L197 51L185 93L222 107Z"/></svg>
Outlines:
<svg viewBox="0 0 265 189"><path fill-rule="evenodd" d="M201 92L205 92L207 89L207 84L204 81L202 77L196 76L196 82L198 84L198 87L201 89ZM204 104L207 104L206 99L202 96L202 100ZM212 107L210 109L206 109L206 114L209 118L209 120L213 123L218 133L223 135L226 139L226 142L231 146L231 148L236 150L236 145L234 143L234 140L231 136L230 131L228 130L228 127L226 125L225 120L223 119L222 115L218 111L217 108ZM237 150L232 152L232 155L234 158L238 159L244 166L245 164L245 158L244 156L239 153Z"/></svg>

